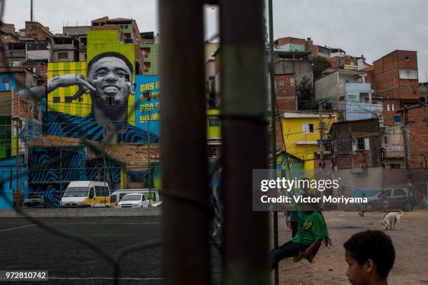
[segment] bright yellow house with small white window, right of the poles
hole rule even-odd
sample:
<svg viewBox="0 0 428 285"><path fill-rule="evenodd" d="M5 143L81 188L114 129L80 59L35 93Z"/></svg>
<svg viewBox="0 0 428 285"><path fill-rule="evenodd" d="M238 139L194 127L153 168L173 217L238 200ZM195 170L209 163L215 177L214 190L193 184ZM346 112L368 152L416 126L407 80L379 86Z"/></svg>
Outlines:
<svg viewBox="0 0 428 285"><path fill-rule="evenodd" d="M327 133L337 115L334 111L323 111L324 125L323 140L327 140ZM287 153L304 161L304 170L307 177L313 177L314 152L318 152L320 140L320 115L314 111L286 111L281 113L284 144Z"/></svg>

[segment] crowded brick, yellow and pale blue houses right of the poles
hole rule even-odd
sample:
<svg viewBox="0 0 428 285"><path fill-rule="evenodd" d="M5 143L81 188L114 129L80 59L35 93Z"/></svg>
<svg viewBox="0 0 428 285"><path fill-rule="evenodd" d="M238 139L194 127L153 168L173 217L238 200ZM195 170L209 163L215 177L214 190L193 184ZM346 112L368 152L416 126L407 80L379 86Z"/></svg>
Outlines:
<svg viewBox="0 0 428 285"><path fill-rule="evenodd" d="M301 159L308 177L343 177L346 195L404 187L426 199L427 83L418 80L417 52L394 50L369 64L312 38L274 44L281 155Z"/></svg>

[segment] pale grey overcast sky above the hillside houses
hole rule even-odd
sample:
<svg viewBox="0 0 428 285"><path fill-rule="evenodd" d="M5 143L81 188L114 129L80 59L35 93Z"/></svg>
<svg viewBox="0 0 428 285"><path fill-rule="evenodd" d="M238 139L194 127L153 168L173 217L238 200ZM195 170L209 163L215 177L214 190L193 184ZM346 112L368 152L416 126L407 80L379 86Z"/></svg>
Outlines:
<svg viewBox="0 0 428 285"><path fill-rule="evenodd" d="M24 28L30 0L6 0L4 22ZM393 50L418 51L420 82L428 81L427 0L273 0L274 38L312 38L316 45L364 54L367 62ZM218 8L207 7L206 38L218 32ZM159 32L155 0L34 0L36 21L61 34L62 26L108 17L136 19L140 31Z"/></svg>

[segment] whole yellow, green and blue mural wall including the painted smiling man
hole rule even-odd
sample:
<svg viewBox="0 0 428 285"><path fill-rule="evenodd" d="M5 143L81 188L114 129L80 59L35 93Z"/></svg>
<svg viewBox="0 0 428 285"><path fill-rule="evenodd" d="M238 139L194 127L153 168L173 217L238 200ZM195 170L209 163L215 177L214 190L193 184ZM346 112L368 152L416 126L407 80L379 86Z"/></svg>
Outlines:
<svg viewBox="0 0 428 285"><path fill-rule="evenodd" d="M113 131L117 142L159 141L159 80L134 74L134 44L117 33L87 31L87 61L48 64L44 134L99 141Z"/></svg>

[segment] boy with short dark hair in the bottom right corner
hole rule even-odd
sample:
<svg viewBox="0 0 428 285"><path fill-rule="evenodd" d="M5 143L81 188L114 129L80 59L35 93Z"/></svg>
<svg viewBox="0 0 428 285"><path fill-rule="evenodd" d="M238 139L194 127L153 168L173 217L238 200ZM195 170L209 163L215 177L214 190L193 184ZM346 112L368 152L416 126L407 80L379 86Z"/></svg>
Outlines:
<svg viewBox="0 0 428 285"><path fill-rule="evenodd" d="M349 267L346 276L353 285L386 285L395 260L391 238L382 231L352 235L343 244Z"/></svg>

